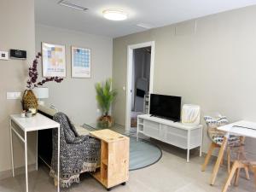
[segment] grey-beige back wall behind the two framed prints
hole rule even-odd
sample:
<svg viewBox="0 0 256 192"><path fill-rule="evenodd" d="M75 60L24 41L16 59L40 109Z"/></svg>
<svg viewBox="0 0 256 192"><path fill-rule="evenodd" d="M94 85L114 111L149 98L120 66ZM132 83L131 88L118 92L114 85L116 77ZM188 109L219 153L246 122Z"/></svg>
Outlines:
<svg viewBox="0 0 256 192"><path fill-rule="evenodd" d="M101 113L96 111L95 84L112 77L112 38L37 25L37 51L41 51L42 42L66 45L67 55L67 78L61 84L45 84L49 87L47 102L67 113L75 124L96 122ZM90 79L71 78L71 45L91 49ZM39 66L41 67L41 64Z"/></svg>

